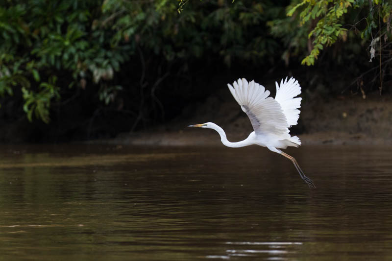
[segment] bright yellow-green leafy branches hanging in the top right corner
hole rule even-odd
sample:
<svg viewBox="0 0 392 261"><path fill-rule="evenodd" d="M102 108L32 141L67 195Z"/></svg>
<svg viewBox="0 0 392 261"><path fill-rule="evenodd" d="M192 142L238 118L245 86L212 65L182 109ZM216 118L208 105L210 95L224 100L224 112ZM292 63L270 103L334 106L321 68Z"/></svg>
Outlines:
<svg viewBox="0 0 392 261"><path fill-rule="evenodd" d="M371 6L368 6L368 0L301 0L299 2L293 0L287 8L287 15L293 17L291 21L297 21L295 24L309 30L307 38L312 42L309 49L310 53L302 60L301 64L314 65L324 47L333 45L338 39L346 41L348 29L344 28L343 24L349 23L353 24L351 28L355 27L356 24L360 23L361 16L364 15L364 12L361 12L363 8L368 8L365 16L366 27L364 29L356 28L360 32L361 38L373 38L372 30L380 28L380 34L385 35L386 40L388 38L387 34L390 34L388 26L391 23L389 18L392 16L391 3L386 0L370 2L372 2ZM374 12L375 8L379 10L378 13ZM386 24L382 29L383 25L378 22L379 16L383 18L382 21ZM354 21L351 20L352 17L354 17ZM359 21L355 21L356 19ZM285 38L284 35L288 33L293 37L294 43L303 39L304 31L300 29L293 31L293 25L288 24L288 21L288 19L271 21L269 25L272 34ZM283 26L278 27L282 24ZM288 41L285 41L285 45L288 50L293 47L293 44ZM303 42L300 45L294 44L294 46L296 47L294 54L298 53L298 49L306 49L306 44Z"/></svg>

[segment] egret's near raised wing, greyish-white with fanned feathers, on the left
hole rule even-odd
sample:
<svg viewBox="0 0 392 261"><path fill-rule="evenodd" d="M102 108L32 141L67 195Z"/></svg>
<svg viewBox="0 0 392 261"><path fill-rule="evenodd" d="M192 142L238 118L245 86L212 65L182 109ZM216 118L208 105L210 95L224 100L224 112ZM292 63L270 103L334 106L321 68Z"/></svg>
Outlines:
<svg viewBox="0 0 392 261"><path fill-rule="evenodd" d="M257 135L275 134L283 136L283 139L290 137L289 124L281 105L269 97L270 91L266 91L264 86L254 81L248 83L245 78L233 82L233 86L227 86L249 117Z"/></svg>

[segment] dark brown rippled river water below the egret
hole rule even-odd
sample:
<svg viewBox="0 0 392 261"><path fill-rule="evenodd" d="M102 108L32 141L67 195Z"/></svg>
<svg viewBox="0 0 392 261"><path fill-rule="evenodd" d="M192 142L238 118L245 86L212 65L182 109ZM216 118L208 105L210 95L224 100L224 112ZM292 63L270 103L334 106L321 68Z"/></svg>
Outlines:
<svg viewBox="0 0 392 261"><path fill-rule="evenodd" d="M0 261L392 260L389 148L8 146Z"/></svg>

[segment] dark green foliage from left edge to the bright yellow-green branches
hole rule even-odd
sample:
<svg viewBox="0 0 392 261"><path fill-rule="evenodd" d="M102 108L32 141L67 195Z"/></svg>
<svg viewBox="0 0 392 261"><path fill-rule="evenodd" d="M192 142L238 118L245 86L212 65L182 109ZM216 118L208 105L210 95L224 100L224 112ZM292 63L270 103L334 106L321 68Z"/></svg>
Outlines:
<svg viewBox="0 0 392 261"><path fill-rule="evenodd" d="M186 12L178 14L185 3ZM0 95L24 88L27 117L32 119L35 111L48 122L48 98L57 95L44 92L42 81L53 76L58 76L58 95L69 88L94 88L109 105L127 89L139 88L124 88L116 72L130 62L147 70L151 55L162 57L161 64L183 63L182 70L191 59L211 54L228 66L235 60L261 64L279 51L266 22L284 16L283 10L271 0L5 0L0 7Z"/></svg>

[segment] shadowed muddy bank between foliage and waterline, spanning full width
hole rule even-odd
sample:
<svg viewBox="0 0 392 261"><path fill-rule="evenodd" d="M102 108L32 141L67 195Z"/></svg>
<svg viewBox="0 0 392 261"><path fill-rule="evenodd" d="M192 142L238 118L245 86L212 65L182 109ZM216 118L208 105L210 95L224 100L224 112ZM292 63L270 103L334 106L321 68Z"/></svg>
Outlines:
<svg viewBox="0 0 392 261"><path fill-rule="evenodd" d="M299 73L298 73L299 74ZM231 76L230 76L231 77ZM137 132L132 129L132 121L124 114L104 113L89 117L89 113L81 115L80 108L67 111L67 116L58 117L53 114L52 121L45 124L39 120L28 122L25 113L15 119L0 117L1 143L26 142L85 142L117 143L137 145L221 145L219 135L210 129L188 128L190 124L208 121L220 125L226 132L229 141L244 140L253 131L249 119L240 109L226 87L227 75L220 75L212 80L206 91L206 99L192 99L184 107L171 109L174 115L164 124L151 123L152 128ZM274 79L276 75L263 80L265 86L274 97ZM273 78L273 79L272 79ZM344 90L344 83L331 79L328 84L312 84L301 80L304 87L302 94L301 114L298 125L291 128L291 134L297 135L302 144L384 144L392 143L392 95L379 95L375 92L364 99L360 93L338 95L328 91L331 84L337 90ZM312 87L312 88L310 88ZM204 90L204 89L203 89ZM181 99L173 97L172 100ZM3 106L4 109L8 108ZM11 108L11 107L10 107ZM8 109L10 109L8 108ZM11 111L11 109L10 109ZM82 110L84 111L84 110ZM1 112L1 111L0 111ZM91 111L90 111L91 113ZM0 113L1 116L1 113ZM174 118L175 117L175 118ZM6 117L5 117L6 118ZM60 120L61 119L61 120ZM148 125L147 125L148 126ZM120 133L120 134L119 134Z"/></svg>

